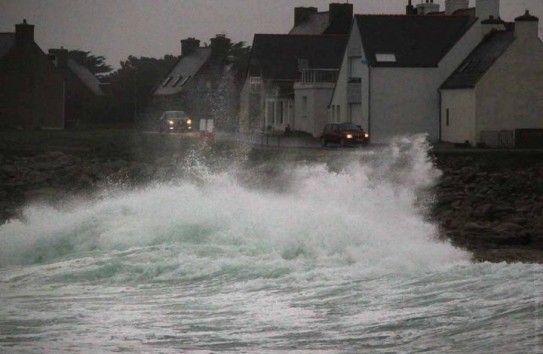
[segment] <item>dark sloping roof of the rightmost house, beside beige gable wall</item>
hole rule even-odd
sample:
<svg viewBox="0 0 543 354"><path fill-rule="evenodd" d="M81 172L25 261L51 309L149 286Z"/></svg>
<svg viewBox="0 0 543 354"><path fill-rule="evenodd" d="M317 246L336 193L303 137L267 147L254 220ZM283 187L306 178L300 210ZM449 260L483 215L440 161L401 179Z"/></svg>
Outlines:
<svg viewBox="0 0 543 354"><path fill-rule="evenodd" d="M468 55L440 89L473 88L494 62L515 41L512 31L490 32Z"/></svg>

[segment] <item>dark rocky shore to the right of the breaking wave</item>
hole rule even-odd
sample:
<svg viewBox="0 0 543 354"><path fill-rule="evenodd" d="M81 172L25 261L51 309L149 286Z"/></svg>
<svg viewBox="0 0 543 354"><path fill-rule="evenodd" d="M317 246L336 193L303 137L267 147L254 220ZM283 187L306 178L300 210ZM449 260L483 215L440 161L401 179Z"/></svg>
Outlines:
<svg viewBox="0 0 543 354"><path fill-rule="evenodd" d="M436 153L433 218L479 261L543 263L543 152Z"/></svg>

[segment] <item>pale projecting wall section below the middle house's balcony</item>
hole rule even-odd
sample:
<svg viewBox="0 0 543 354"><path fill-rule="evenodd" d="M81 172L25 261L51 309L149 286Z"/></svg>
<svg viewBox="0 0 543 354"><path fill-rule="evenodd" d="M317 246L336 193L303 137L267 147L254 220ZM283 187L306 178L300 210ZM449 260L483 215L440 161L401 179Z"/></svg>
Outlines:
<svg viewBox="0 0 543 354"><path fill-rule="evenodd" d="M314 137L320 136L327 122L327 106L333 89L333 83L295 83L292 129L310 133Z"/></svg>

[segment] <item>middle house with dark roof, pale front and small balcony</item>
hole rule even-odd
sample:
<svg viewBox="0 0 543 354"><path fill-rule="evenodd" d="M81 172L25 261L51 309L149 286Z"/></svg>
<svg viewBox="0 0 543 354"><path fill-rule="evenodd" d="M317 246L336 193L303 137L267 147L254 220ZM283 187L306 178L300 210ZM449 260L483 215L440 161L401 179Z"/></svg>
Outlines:
<svg viewBox="0 0 543 354"><path fill-rule="evenodd" d="M256 34L241 91L240 130L303 131L326 121L346 35Z"/></svg>

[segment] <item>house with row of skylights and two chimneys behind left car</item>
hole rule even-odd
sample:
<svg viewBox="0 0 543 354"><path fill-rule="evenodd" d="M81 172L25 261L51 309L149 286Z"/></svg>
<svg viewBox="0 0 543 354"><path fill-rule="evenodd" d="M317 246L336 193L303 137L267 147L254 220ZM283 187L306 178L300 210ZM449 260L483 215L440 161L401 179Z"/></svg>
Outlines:
<svg viewBox="0 0 543 354"><path fill-rule="evenodd" d="M184 111L196 121L214 119L219 129L237 128L239 84L228 59L231 41L219 34L210 42L200 46L195 38L181 40L181 56L154 89L140 124L156 128L163 112Z"/></svg>

